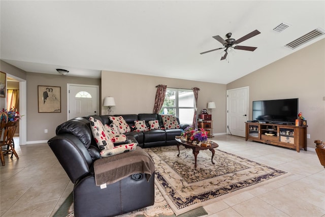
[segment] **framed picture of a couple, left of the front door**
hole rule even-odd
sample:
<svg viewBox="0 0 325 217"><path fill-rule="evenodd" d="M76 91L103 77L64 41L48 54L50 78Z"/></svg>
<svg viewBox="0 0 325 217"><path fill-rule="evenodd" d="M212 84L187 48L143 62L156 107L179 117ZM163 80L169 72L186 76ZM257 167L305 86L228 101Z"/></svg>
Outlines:
<svg viewBox="0 0 325 217"><path fill-rule="evenodd" d="M61 112L61 87L38 86L39 113Z"/></svg>

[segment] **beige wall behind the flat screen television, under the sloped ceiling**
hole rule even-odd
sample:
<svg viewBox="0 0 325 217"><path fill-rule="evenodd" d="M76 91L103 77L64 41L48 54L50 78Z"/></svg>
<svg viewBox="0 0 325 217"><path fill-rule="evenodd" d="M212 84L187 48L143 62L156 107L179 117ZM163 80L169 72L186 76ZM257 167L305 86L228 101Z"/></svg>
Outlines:
<svg viewBox="0 0 325 217"><path fill-rule="evenodd" d="M252 101L299 98L299 111L307 120L308 147L325 140L325 39L237 79L227 89L249 86Z"/></svg>

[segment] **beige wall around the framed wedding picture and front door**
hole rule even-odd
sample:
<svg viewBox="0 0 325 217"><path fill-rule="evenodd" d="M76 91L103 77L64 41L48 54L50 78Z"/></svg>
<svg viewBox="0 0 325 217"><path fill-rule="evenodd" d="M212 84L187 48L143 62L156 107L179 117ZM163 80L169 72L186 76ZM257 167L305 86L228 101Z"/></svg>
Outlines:
<svg viewBox="0 0 325 217"><path fill-rule="evenodd" d="M27 73L27 142L48 140L55 129L67 120L67 84L101 85L101 79ZM38 85L61 87L61 113L38 113ZM100 87L101 88L101 87ZM48 129L48 133L44 133Z"/></svg>

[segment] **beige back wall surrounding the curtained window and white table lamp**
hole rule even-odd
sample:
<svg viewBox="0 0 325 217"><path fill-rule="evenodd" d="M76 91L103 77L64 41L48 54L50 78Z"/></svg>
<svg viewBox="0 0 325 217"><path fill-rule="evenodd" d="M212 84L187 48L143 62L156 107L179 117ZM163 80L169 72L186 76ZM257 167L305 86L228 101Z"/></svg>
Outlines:
<svg viewBox="0 0 325 217"><path fill-rule="evenodd" d="M114 97L114 114L152 113L158 84L184 89L199 87L198 112L207 108L208 102L215 102L213 133L225 133L225 84L102 71L102 105L105 97ZM107 114L106 107L102 107L102 114Z"/></svg>

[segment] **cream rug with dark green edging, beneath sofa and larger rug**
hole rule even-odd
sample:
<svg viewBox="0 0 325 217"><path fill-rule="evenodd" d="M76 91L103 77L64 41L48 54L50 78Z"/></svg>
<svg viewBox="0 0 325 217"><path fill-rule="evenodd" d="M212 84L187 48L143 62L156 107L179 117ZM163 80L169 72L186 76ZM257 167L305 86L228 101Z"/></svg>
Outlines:
<svg viewBox="0 0 325 217"><path fill-rule="evenodd" d="M125 213L122 215L118 215L118 217L175 217L173 210L168 205L167 201L161 195L160 191L155 185L155 197L154 197L154 205L148 206L142 209L135 210L133 212ZM188 212L185 212L178 217L197 217L208 214L203 207L198 207ZM73 196L72 193L69 197L62 203L59 209L55 212L53 217L74 217L73 212Z"/></svg>

